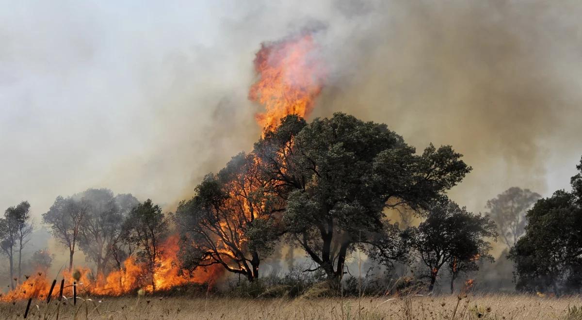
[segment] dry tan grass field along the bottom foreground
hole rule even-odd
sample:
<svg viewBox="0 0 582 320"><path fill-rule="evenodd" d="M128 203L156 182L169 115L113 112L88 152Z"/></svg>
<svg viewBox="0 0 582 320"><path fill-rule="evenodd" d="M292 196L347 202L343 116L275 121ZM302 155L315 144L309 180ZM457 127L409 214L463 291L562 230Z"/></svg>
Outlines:
<svg viewBox="0 0 582 320"><path fill-rule="evenodd" d="M38 305L38 307L37 307ZM385 298L122 297L58 305L33 301L29 319L582 319L582 298L469 295ZM2 303L2 319L21 319L26 301ZM57 317L58 310L58 317Z"/></svg>

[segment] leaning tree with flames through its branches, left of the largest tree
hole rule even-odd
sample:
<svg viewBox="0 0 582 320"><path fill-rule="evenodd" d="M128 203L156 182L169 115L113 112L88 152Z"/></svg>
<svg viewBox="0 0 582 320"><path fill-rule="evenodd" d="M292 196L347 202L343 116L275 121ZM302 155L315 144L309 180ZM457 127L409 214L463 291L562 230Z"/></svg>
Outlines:
<svg viewBox="0 0 582 320"><path fill-rule="evenodd" d="M183 237L183 266L219 264L249 281L257 279L261 259L271 253L280 233L275 215L282 211L282 201L271 190L254 154L239 154L218 175L205 177L175 215Z"/></svg>

